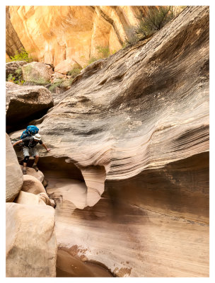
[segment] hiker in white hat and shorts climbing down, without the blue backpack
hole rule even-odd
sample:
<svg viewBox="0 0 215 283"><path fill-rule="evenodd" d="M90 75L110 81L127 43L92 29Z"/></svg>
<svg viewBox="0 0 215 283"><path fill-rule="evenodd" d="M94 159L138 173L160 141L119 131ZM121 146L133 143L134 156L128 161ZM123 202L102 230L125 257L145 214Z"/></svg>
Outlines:
<svg viewBox="0 0 215 283"><path fill-rule="evenodd" d="M35 161L33 163L33 168L35 171L38 171L37 162L39 160L39 154L37 152L37 144L41 144L47 151L50 151L51 149L48 149L47 146L42 142L42 139L40 137L40 134L35 134L33 137L25 137L24 139L21 139L19 141L16 141L13 146L16 146L16 144L21 144L23 142L23 155L24 155L24 162L23 162L23 175L26 175L26 166L28 163L29 156L33 156L35 158Z"/></svg>

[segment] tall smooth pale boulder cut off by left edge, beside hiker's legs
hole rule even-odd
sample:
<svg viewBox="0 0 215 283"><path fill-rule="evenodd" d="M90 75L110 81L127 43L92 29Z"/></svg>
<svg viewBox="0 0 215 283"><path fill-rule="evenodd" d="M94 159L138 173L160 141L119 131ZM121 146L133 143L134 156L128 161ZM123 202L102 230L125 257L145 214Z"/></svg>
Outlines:
<svg viewBox="0 0 215 283"><path fill-rule="evenodd" d="M11 144L11 139L6 134L6 202L13 202L21 191L23 173L18 164L16 152Z"/></svg>

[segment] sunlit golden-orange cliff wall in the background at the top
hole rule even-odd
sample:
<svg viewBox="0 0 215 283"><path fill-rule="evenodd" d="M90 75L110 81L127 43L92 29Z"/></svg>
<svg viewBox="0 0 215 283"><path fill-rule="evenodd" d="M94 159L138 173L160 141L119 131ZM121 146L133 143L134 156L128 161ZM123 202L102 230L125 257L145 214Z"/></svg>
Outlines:
<svg viewBox="0 0 215 283"><path fill-rule="evenodd" d="M97 47L119 50L144 6L10 6L9 11L25 50L64 73L98 56Z"/></svg>

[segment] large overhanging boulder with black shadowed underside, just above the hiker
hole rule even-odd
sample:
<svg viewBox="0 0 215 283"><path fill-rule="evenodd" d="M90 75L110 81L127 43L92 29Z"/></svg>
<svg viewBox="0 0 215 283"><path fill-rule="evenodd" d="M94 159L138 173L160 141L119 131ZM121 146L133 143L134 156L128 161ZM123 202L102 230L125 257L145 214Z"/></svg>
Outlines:
<svg viewBox="0 0 215 283"><path fill-rule="evenodd" d="M21 123L41 117L53 106L53 98L44 86L18 86L6 82L6 125L16 129Z"/></svg>

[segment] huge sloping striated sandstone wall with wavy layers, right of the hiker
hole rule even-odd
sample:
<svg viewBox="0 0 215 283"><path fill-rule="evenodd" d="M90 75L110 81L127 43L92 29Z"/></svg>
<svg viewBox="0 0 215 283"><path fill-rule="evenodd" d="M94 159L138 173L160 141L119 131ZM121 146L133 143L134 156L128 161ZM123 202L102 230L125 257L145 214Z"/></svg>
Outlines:
<svg viewBox="0 0 215 283"><path fill-rule="evenodd" d="M37 127L71 274L209 276L208 6L91 64Z"/></svg>

